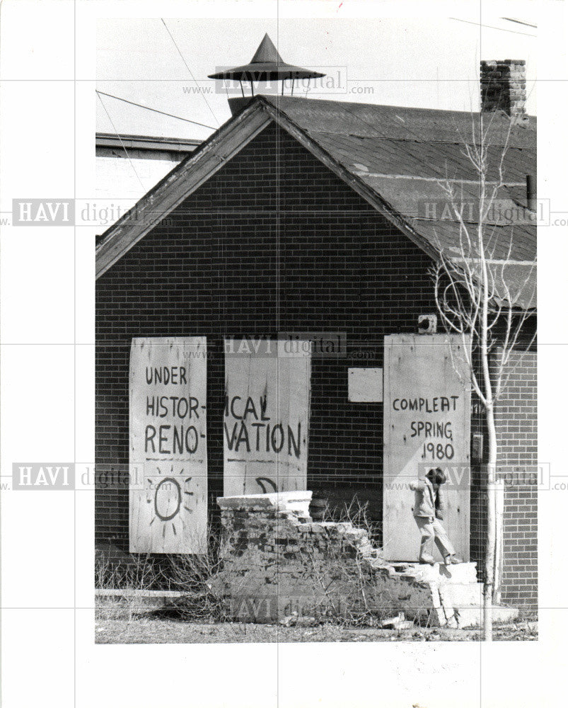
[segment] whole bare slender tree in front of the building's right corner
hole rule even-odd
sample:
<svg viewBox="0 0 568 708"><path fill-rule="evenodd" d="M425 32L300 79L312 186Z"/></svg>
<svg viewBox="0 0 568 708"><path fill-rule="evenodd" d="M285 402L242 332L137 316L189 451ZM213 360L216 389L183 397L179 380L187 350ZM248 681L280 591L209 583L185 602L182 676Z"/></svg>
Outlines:
<svg viewBox="0 0 568 708"><path fill-rule="evenodd" d="M487 545L485 549L485 584L483 629L487 641L492 639L492 605L494 601L495 552L497 544L495 495L497 482L497 430L495 406L506 389L509 377L535 340L535 331L526 335L527 319L533 311L535 265L533 261L518 263L514 253L514 224L510 230L499 223L499 207L504 202L506 187L504 159L509 147L511 121L504 146L495 154L490 138L492 121L483 125L480 115L473 140L465 142L463 154L473 165L475 185L475 219L464 210L463 182L444 181L441 188L459 229L458 248L451 255L439 239L440 257L431 268L434 294L441 321L448 333L463 337L463 356L471 375L473 391L485 412L488 435L487 460ZM476 139L477 138L477 139ZM531 217L523 207L524 219ZM468 217L466 220L466 216ZM522 220L522 217L521 217ZM502 219L501 219L502 222ZM504 232L506 236L504 236ZM455 253L454 253L455 251ZM512 271L515 271L513 273ZM519 271L522 271L519 277ZM512 277L512 276L515 277ZM513 285L514 283L514 285ZM472 347L467 338L471 336ZM521 352L520 356L512 356Z"/></svg>

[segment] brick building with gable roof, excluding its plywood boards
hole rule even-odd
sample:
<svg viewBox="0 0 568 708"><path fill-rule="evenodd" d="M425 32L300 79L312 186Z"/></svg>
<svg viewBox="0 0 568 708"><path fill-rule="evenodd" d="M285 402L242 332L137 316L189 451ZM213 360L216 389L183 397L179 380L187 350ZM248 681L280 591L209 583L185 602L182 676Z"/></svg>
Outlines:
<svg viewBox="0 0 568 708"><path fill-rule="evenodd" d="M475 197L463 140L472 125L477 135L482 114L472 120L469 113L269 96L232 103L233 118L98 245L98 474L129 462L132 338L207 337L213 511L223 493L224 336L339 331L346 355L312 360L308 489L335 501L357 494L380 524L383 406L349 401L347 369L382 367L383 337L416 333L419 315L436 312L429 268L439 250L456 256L458 224L431 205L441 203L436 189L446 179ZM507 112L485 123L489 156L496 160L509 144L500 196L528 207L535 119L520 111L511 122L510 109L509 101ZM535 226L520 220L512 228L509 286L518 307L535 312L526 287L534 277ZM505 243L511 224L497 219L494 230ZM499 469L507 476L502 600L528 606L537 592L535 372L531 350L497 411ZM484 430L475 402L471 429ZM470 558L480 568L482 455L470 491ZM96 542L127 550L127 485L99 484L95 513Z"/></svg>

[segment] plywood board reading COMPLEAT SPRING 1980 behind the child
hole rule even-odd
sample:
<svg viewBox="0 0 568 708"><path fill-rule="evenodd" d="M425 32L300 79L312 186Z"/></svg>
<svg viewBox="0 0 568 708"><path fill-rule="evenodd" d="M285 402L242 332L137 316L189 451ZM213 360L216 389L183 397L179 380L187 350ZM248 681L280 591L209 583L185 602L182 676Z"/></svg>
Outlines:
<svg viewBox="0 0 568 708"><path fill-rule="evenodd" d="M468 559L471 394L463 340L448 334L387 336L384 371L385 558L417 559L420 535L409 484L441 467L448 478L444 525L458 555Z"/></svg>

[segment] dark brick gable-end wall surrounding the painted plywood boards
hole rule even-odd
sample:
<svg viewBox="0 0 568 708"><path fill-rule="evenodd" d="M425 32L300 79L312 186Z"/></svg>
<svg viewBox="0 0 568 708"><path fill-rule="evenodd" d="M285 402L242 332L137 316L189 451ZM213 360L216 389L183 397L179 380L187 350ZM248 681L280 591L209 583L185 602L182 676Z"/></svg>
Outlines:
<svg viewBox="0 0 568 708"><path fill-rule="evenodd" d="M383 336L415 332L417 315L435 312L428 267L423 251L267 127L97 282L98 473L127 469L132 337L207 336L214 508L223 476L223 337L342 331L347 359L313 360L308 489L359 490L380 521L382 404L347 401L347 368L382 366ZM98 487L95 523L98 542L127 549L126 485ZM475 516L471 526L480 526Z"/></svg>

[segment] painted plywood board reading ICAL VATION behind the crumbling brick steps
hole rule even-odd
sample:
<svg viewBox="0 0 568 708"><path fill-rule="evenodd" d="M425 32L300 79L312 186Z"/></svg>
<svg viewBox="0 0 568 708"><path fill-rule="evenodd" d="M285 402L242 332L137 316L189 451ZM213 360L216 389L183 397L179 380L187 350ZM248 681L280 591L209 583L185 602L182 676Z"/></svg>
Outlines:
<svg viewBox="0 0 568 708"><path fill-rule="evenodd" d="M225 340L224 494L306 489L310 344Z"/></svg>

